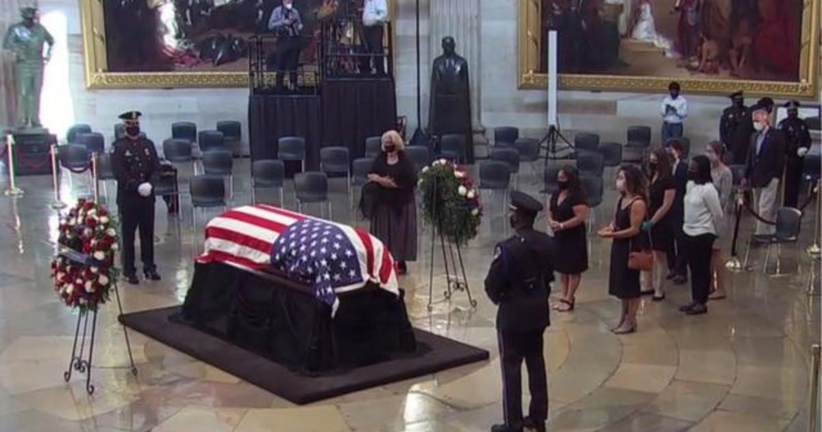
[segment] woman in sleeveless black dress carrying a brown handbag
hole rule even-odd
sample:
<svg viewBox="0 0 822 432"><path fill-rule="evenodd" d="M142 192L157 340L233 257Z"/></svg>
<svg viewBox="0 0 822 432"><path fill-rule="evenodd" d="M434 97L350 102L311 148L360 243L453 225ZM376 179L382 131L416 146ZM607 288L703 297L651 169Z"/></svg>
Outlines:
<svg viewBox="0 0 822 432"><path fill-rule="evenodd" d="M636 311L640 308L640 271L628 267L628 255L644 247L640 234L647 207L642 170L636 165L622 165L617 173L617 191L620 198L614 221L597 234L613 239L608 294L622 300L622 314L619 324L611 331L626 334L636 331Z"/></svg>

